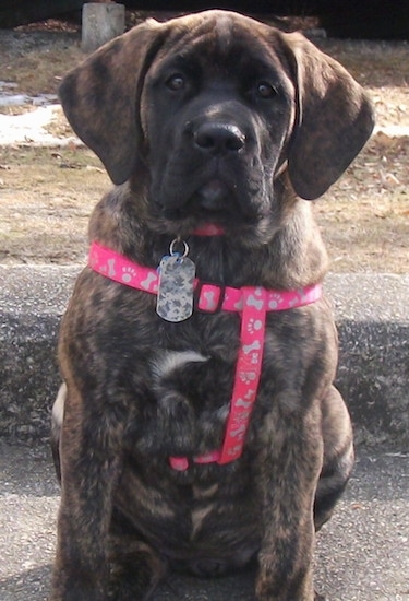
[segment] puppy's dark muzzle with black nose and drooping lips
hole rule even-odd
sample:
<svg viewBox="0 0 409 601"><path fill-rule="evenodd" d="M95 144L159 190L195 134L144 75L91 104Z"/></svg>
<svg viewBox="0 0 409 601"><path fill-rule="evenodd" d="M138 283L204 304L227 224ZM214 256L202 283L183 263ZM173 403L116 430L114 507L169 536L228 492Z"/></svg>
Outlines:
<svg viewBox="0 0 409 601"><path fill-rule="evenodd" d="M260 174L254 169L260 150L255 126L241 103L201 98L189 107L179 131L176 127L175 152L165 172L167 193L163 193L163 177L158 193L153 189L161 215L255 222L254 198L260 189Z"/></svg>

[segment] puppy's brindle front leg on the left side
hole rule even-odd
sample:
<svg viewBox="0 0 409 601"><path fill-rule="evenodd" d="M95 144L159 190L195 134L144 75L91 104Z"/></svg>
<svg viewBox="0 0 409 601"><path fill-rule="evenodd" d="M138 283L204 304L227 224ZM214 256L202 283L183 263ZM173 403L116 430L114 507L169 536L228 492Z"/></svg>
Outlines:
<svg viewBox="0 0 409 601"><path fill-rule="evenodd" d="M108 532L121 468L120 424L125 420L113 410L87 417L80 393L69 388L60 438L61 505L51 601L108 599Z"/></svg>

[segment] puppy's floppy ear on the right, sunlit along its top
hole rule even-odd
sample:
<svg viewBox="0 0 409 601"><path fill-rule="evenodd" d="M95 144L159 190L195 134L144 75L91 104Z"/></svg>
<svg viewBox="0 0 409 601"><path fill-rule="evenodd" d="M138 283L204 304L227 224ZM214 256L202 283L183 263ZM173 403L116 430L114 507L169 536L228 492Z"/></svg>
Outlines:
<svg viewBox="0 0 409 601"><path fill-rule="evenodd" d="M313 200L345 172L370 138L374 117L362 87L300 34L286 34L296 70L298 122L288 168L296 192Z"/></svg>

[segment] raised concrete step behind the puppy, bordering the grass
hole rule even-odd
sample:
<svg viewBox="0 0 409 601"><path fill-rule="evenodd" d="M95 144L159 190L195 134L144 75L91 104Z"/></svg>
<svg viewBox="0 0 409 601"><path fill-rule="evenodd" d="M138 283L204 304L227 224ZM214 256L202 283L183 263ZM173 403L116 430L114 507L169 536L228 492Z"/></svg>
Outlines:
<svg viewBox="0 0 409 601"><path fill-rule="evenodd" d="M80 270L0 266L0 436L46 439L58 390L57 334ZM357 443L409 448L409 274L333 274L337 385Z"/></svg>

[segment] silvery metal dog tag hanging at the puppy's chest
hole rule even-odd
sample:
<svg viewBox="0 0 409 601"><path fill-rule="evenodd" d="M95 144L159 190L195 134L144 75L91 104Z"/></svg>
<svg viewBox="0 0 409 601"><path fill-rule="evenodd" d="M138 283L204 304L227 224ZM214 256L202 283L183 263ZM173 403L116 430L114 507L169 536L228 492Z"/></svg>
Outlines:
<svg viewBox="0 0 409 601"><path fill-rule="evenodd" d="M194 262L185 256L165 256L159 263L156 313L166 321L184 321L193 313Z"/></svg>

